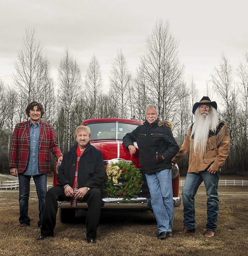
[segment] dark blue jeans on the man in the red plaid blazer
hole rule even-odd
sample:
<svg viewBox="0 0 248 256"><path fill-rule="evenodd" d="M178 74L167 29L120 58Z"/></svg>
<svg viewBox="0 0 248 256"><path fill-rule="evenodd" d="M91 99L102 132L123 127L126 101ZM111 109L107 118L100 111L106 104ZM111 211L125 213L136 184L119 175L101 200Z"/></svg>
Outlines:
<svg viewBox="0 0 248 256"><path fill-rule="evenodd" d="M21 224L30 225L30 218L28 216L28 199L30 191L30 175L18 174L19 178L19 206ZM42 215L45 206L46 197L46 174L33 175L36 192L39 199L39 221L38 226L42 225Z"/></svg>

